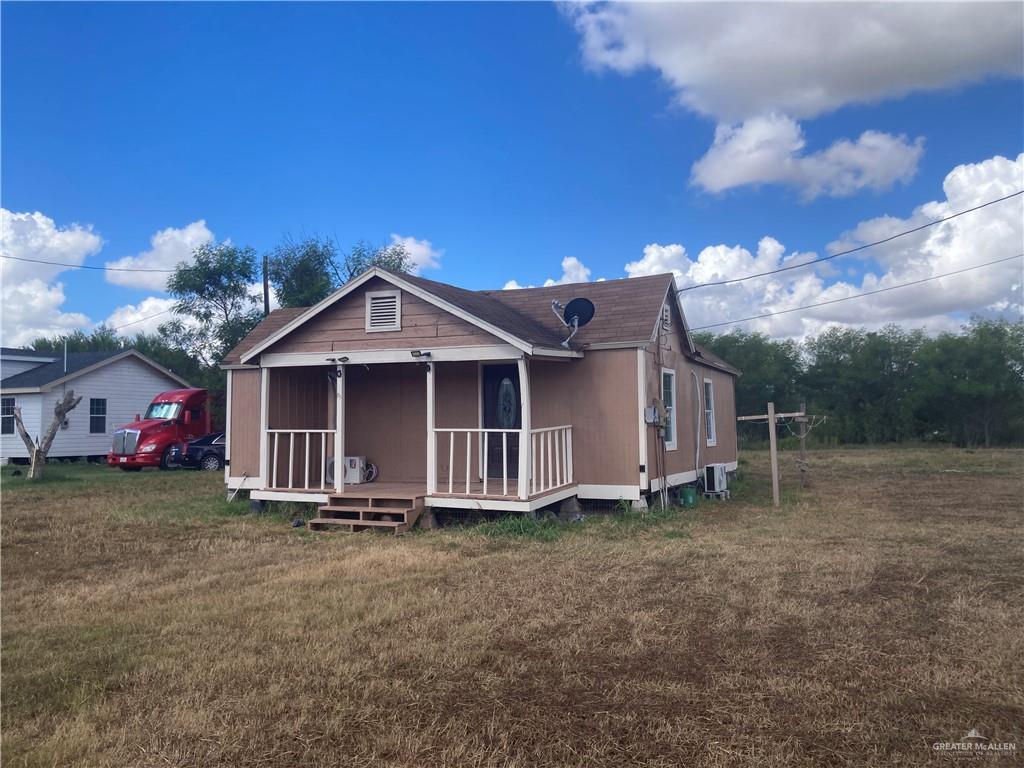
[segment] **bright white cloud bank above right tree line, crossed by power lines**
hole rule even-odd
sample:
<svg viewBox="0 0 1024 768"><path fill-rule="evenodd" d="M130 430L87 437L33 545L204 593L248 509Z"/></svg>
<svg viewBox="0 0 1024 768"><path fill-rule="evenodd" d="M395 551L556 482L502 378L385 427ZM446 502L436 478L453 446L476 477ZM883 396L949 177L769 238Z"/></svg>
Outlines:
<svg viewBox="0 0 1024 768"><path fill-rule="evenodd" d="M946 176L946 199L926 203L906 219L892 216L861 222L829 245L836 252L893 234L928 221L1009 195L1024 186L1024 154L1013 160L995 157L962 165ZM1013 198L981 211L937 224L920 234L900 238L887 246L857 254L871 260L858 282L836 281L836 262L793 269L727 286L683 293L690 326L815 304L879 288L901 285L1024 252L1024 203ZM679 244L652 244L643 257L626 264L631 278L671 271L680 288L729 280L813 260L814 253L788 253L773 238L763 238L756 252L741 246L711 246L695 259ZM846 258L854 258L846 257ZM908 288L823 307L780 314L742 324L750 331L774 337L803 337L836 325L878 328L899 323L928 331L953 330L966 313L1022 312L1022 265L1004 262L966 274L942 278ZM728 328L716 329L725 332Z"/></svg>

